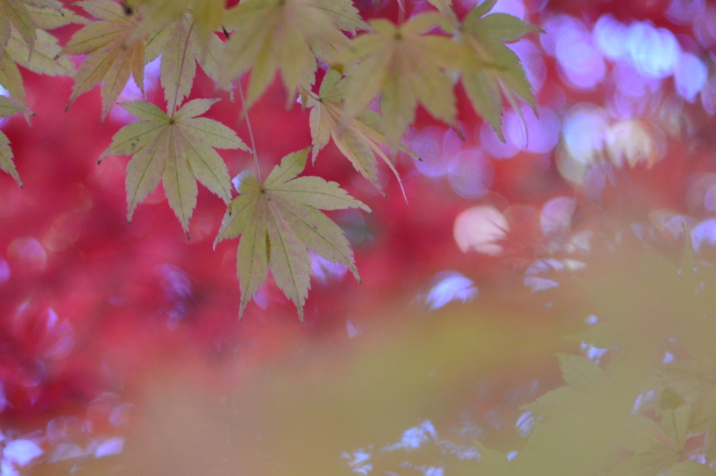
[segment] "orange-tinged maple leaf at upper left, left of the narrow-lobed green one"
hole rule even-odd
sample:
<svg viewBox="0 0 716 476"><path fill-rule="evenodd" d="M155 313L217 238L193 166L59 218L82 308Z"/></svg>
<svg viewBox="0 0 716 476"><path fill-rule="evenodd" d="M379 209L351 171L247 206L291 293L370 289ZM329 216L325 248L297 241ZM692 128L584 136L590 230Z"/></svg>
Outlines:
<svg viewBox="0 0 716 476"><path fill-rule="evenodd" d="M87 54L77 70L69 105L80 94L102 81L102 120L127 84L130 74L144 91L145 44L142 39L128 42L137 26L137 16L127 15L120 4L110 0L77 2L95 16L69 39L62 54ZM69 107L67 105L67 107Z"/></svg>

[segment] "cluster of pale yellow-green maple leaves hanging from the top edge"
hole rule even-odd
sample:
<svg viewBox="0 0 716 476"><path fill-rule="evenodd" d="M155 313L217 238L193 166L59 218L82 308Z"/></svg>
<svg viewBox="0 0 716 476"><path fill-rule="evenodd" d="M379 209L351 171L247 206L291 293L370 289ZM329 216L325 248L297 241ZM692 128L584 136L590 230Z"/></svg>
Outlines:
<svg viewBox="0 0 716 476"><path fill-rule="evenodd" d="M250 150L225 125L198 117L213 99L185 102L197 64L229 92L232 82L251 73L245 100L241 92L244 117L278 74L287 106L300 94L301 104L311 109L314 160L333 140L380 190L377 160L395 173L389 155L406 151L402 136L419 103L459 130L458 81L500 137L503 95L516 110L520 98L536 107L518 57L505 43L540 29L514 16L490 14L495 2L484 1L460 20L449 1L432 0L434 10L395 24L364 21L350 0L242 0L228 9L223 0L77 1L88 17L57 0L0 0L0 84L14 99L3 99L0 114L30 114L20 65L74 77L68 107L101 82L104 120L130 77L144 92L144 67L161 55L165 107L122 104L139 121L122 127L102 154L132 156L127 218L161 182L188 233L198 180L228 204L218 241L242 236L241 311L271 268L301 314L310 285L308 248L357 276L349 243L317 210L367 207L334 183L294 179L308 150L285 157L263 183L260 172L258 179L245 178L232 200L228 169L214 148L241 149L254 157L256 148ZM48 30L70 23L83 26L60 47ZM85 55L76 71L71 55ZM379 112L374 112L369 106L377 97ZM19 183L7 142L0 136L0 166Z"/></svg>

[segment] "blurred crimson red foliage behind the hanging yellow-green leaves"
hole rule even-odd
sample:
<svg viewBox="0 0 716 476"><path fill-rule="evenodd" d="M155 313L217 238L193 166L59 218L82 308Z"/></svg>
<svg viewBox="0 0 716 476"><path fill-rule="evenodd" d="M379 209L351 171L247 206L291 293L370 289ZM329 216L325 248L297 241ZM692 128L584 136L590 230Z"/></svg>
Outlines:
<svg viewBox="0 0 716 476"><path fill-rule="evenodd" d="M529 19L536 23L559 12L589 21L611 13L621 21L649 20L675 34L691 34L689 27L665 19L667 0L525 3L535 12ZM396 2L366 0L357 5L367 16L397 16ZM459 14L464 11L458 8ZM59 37L66 39L72 31L60 31ZM713 47L704 54L712 57ZM571 90L558 76L555 60L545 61L548 75L538 96L541 104L561 101L566 109L577 102L604 101L606 87ZM528 152L492 160L493 184L479 199L460 198L445 180L417 173L410 159L401 156L398 168L407 201L389 173L384 174L385 199L329 145L307 173L336 180L372 208L371 215L332 215L354 243L363 283L348 275L314 280L305 324L275 286L265 286L258 304L249 305L239 322L237 243L224 242L216 250L212 246L224 212L221 200L200 188L190 241L162 190L150 195L127 223L127 157L107 157L97 165L97 157L122 125L117 116L99 123L99 89L65 111L71 79L23 74L29 108L37 116L32 127L19 116L2 126L24 189L0 175L0 431L31 431L53 417L72 414L93 415L98 425L106 424L107 414L132 401L146 369L178 356L216 368L240 356L250 368L291 351L296 336L347 341L348 321L360 326L362 319L392 309L396 302L414 303L415 296L430 288L432 277L446 269L463 273L478 287L497 288L504 280L523 276L540 256L539 209L558 195L577 198L579 226L598 236L614 230L614 223L605 224L605 216L629 225L644 221L657 208L697 219L708 215L692 210L684 200L695 173L715 171L710 151L714 121L700 105L686 104L682 110L694 118L696 132L670 138L667 159L654 167L614 170L614 180L600 200L585 198L563 180L554 154ZM664 94L674 94L672 89L666 84ZM192 97L216 94L200 72ZM458 94L461 123L468 132L478 130L480 120L466 106L463 92ZM158 87L150 91L150 100L162 102ZM297 105L287 112L285 104L276 82L250 112L266 170L311 140L308 112ZM218 102L209 114L235 127L248 142L238 104ZM445 130L420 110L415 130L432 126ZM464 147L480 147L475 135L467 135ZM223 152L223 157L232 176L253 167L246 153ZM480 203L513 210L500 258L463 253L455 244L455 217Z"/></svg>

